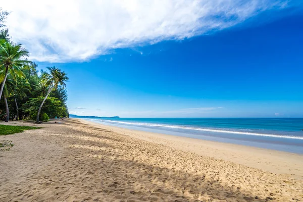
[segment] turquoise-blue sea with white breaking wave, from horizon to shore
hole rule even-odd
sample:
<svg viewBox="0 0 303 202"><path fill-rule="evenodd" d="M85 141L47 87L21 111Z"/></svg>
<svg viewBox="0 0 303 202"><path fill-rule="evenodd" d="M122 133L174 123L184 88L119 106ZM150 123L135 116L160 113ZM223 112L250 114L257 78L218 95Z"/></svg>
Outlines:
<svg viewBox="0 0 303 202"><path fill-rule="evenodd" d="M303 118L108 118L93 122L303 154Z"/></svg>

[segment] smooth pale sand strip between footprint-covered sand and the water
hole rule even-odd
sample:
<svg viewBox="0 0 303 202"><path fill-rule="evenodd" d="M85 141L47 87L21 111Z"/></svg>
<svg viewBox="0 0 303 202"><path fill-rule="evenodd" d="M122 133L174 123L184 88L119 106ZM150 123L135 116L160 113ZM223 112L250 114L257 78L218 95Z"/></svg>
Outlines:
<svg viewBox="0 0 303 202"><path fill-rule="evenodd" d="M109 131L128 135L141 140L171 146L184 151L190 151L197 155L230 161L236 164L261 169L271 173L285 174L296 179L303 180L303 155L301 154L233 143L132 130L84 119L78 120L94 127L105 128Z"/></svg>

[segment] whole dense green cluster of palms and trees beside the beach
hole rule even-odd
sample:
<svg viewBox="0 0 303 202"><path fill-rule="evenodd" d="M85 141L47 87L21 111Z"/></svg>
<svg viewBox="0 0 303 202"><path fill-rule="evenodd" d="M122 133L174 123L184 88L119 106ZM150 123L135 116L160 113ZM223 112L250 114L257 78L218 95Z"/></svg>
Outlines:
<svg viewBox="0 0 303 202"><path fill-rule="evenodd" d="M11 40L5 26L8 15L0 8L0 119L40 123L69 117L67 74L56 67L38 71L27 49Z"/></svg>

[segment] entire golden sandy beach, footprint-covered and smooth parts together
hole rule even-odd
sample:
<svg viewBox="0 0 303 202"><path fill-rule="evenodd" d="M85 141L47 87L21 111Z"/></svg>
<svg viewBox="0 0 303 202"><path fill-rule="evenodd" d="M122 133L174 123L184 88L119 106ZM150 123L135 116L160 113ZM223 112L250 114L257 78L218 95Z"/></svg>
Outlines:
<svg viewBox="0 0 303 202"><path fill-rule="evenodd" d="M302 155L60 122L0 136L0 201L303 200Z"/></svg>

